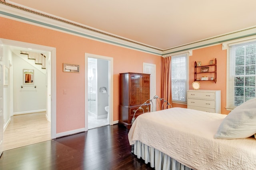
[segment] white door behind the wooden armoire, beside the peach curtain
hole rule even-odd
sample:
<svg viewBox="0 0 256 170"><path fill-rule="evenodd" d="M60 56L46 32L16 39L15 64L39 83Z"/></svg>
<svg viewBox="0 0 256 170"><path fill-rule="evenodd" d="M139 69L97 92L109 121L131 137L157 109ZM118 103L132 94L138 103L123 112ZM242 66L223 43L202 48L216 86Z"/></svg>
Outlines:
<svg viewBox="0 0 256 170"><path fill-rule="evenodd" d="M143 63L143 73L150 74L150 99L156 96L156 64ZM156 99L152 100L151 111L156 111Z"/></svg>

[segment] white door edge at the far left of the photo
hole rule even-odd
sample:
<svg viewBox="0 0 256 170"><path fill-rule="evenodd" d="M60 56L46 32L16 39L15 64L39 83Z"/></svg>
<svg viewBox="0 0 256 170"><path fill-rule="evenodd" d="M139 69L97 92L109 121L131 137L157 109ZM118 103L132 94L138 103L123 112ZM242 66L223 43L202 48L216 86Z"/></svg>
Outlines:
<svg viewBox="0 0 256 170"><path fill-rule="evenodd" d="M4 133L4 114L3 114L3 109L4 109L4 99L3 99L3 65L2 65L2 60L3 60L3 45L2 41L0 41L0 156L2 155L2 152L4 150L3 147L3 133Z"/></svg>

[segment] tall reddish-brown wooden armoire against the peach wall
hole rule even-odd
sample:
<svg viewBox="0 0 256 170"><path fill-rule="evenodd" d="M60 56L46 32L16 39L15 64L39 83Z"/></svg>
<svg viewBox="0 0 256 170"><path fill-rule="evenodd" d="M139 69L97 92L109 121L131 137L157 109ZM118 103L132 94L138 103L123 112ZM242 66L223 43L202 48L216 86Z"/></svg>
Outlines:
<svg viewBox="0 0 256 170"><path fill-rule="evenodd" d="M119 124L125 125L128 129L132 126L132 117L143 103L150 99L150 74L126 72L120 73L120 104ZM150 111L148 106L142 106L144 113ZM142 114L143 110L136 111L135 117Z"/></svg>

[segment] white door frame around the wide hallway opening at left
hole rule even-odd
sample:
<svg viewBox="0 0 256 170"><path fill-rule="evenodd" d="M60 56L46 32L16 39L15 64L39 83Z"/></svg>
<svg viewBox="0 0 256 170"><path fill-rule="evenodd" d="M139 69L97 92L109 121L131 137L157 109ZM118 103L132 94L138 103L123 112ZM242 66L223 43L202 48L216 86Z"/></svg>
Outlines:
<svg viewBox="0 0 256 170"><path fill-rule="evenodd" d="M11 45L11 46L23 47L23 48L32 48L35 50L50 52L51 81L48 83L50 83L50 87L51 87L51 94L50 94L51 102L48 102L50 104L50 107L47 107L47 108L50 108L50 113L51 113L51 139L55 139L56 138L56 48L48 47L44 45L26 43L21 41L14 41L10 39L0 38L0 40L4 45Z"/></svg>

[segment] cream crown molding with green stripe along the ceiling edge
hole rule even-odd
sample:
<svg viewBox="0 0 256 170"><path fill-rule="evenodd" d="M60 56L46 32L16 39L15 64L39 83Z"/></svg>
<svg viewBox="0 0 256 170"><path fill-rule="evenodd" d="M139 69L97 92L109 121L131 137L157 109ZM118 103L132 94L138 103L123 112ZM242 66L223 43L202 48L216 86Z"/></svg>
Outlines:
<svg viewBox="0 0 256 170"><path fill-rule="evenodd" d="M190 51L192 49L200 49L222 44L227 41L243 39L256 35L256 26L254 26L164 50L131 39L126 39L118 35L107 33L87 25L81 25L80 23L76 23L74 21L69 21L64 18L59 18L50 14L36 11L34 9L29 9L28 7L10 4L1 0L0 16L158 56L174 55L176 53Z"/></svg>

